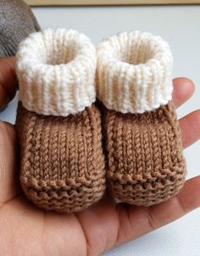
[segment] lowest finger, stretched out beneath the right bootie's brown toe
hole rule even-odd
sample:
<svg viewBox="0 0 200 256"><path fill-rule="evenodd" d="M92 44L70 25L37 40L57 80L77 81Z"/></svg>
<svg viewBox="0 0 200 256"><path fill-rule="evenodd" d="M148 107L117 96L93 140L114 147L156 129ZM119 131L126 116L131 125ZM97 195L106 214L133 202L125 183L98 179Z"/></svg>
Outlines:
<svg viewBox="0 0 200 256"><path fill-rule="evenodd" d="M141 237L200 207L200 176L186 181L181 192L164 203L149 208L119 203L117 244Z"/></svg>

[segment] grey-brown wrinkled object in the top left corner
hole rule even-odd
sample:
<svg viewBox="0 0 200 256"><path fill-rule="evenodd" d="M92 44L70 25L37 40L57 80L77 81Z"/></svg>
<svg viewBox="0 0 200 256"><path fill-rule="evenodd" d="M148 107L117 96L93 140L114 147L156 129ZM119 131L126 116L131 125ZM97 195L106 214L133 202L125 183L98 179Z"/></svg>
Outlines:
<svg viewBox="0 0 200 256"><path fill-rule="evenodd" d="M19 42L39 30L35 15L24 1L0 1L0 57L13 56Z"/></svg>

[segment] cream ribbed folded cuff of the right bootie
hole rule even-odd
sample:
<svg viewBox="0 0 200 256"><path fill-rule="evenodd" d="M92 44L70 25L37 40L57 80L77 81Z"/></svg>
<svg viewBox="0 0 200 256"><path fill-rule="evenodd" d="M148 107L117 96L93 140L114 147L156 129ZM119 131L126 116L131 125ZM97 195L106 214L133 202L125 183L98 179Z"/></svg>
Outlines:
<svg viewBox="0 0 200 256"><path fill-rule="evenodd" d="M173 58L160 36L131 31L97 45L97 97L108 109L143 113L172 97Z"/></svg>

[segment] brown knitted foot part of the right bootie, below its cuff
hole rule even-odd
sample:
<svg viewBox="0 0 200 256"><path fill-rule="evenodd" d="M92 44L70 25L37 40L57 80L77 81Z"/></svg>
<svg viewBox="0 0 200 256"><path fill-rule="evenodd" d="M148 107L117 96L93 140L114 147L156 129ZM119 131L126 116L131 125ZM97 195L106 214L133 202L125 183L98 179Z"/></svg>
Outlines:
<svg viewBox="0 0 200 256"><path fill-rule="evenodd" d="M105 115L107 177L114 197L150 206L179 192L186 163L173 105L144 114L106 109Z"/></svg>

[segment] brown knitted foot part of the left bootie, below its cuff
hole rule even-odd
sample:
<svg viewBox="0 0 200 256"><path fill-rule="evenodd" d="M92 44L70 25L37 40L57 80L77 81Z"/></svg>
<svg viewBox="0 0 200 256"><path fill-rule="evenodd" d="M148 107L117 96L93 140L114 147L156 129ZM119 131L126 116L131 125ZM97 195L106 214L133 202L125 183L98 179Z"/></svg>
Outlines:
<svg viewBox="0 0 200 256"><path fill-rule="evenodd" d="M92 105L68 118L39 115L19 102L20 182L42 209L77 212L103 197L100 114Z"/></svg>

